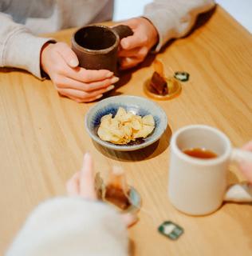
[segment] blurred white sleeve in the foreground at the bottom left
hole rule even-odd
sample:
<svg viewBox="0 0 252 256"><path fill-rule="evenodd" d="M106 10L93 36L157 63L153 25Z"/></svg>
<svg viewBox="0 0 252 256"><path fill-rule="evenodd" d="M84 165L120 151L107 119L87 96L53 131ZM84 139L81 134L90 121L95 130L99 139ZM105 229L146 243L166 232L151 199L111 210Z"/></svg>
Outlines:
<svg viewBox="0 0 252 256"><path fill-rule="evenodd" d="M112 207L82 198L37 206L6 256L125 256L127 230Z"/></svg>

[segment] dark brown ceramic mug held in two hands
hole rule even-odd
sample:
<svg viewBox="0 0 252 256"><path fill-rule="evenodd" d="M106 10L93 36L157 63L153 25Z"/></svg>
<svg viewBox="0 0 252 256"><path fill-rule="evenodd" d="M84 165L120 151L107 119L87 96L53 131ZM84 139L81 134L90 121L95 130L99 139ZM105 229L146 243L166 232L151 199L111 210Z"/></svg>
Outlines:
<svg viewBox="0 0 252 256"><path fill-rule="evenodd" d="M88 70L117 70L117 52L120 39L133 34L129 26L109 28L89 25L77 30L72 37L72 49L80 66Z"/></svg>

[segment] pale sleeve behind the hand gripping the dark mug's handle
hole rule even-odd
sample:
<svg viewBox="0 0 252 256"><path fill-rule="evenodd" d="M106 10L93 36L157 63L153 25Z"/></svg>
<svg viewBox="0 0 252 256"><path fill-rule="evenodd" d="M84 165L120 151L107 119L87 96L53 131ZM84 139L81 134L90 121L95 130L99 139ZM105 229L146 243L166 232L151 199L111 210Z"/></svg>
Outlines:
<svg viewBox="0 0 252 256"><path fill-rule="evenodd" d="M200 13L211 10L214 0L155 0L144 8L148 18L159 33L156 51L171 38L186 35Z"/></svg>

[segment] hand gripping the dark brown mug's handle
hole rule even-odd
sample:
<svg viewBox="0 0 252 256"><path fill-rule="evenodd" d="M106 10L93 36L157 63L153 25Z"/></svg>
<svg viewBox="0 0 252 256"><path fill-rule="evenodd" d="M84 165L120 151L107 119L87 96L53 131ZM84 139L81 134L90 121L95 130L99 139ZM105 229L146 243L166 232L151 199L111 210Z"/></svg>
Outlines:
<svg viewBox="0 0 252 256"><path fill-rule="evenodd" d="M129 26L134 32L120 41L120 68L124 70L144 61L148 51L158 42L158 33L146 18L131 18L120 24Z"/></svg>

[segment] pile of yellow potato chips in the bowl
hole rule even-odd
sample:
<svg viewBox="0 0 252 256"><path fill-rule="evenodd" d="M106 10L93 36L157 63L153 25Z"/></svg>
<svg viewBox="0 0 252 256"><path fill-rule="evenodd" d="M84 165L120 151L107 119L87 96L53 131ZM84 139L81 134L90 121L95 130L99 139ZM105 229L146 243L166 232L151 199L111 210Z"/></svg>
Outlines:
<svg viewBox="0 0 252 256"><path fill-rule="evenodd" d="M106 114L100 119L97 133L100 139L121 145L136 138L146 138L154 128L155 121L151 114L142 118L120 107L114 118L112 114Z"/></svg>

